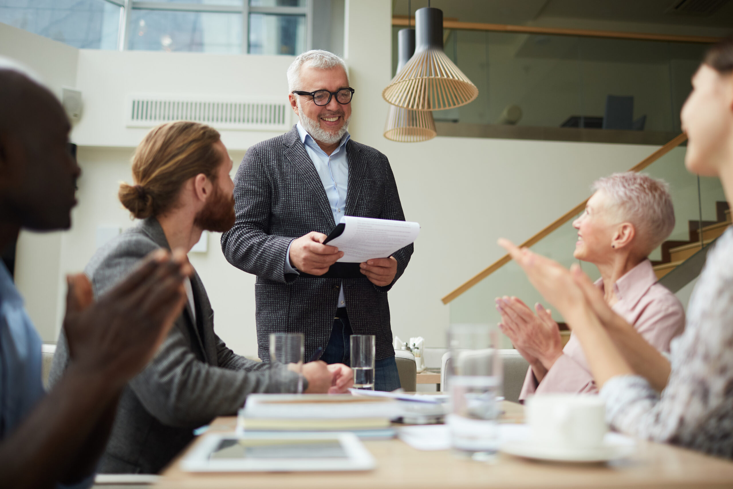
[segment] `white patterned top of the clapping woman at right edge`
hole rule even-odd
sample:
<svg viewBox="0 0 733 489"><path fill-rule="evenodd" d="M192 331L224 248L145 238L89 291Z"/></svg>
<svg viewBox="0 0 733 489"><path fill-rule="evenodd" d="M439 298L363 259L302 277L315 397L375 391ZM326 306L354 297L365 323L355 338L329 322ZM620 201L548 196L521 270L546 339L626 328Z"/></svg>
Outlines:
<svg viewBox="0 0 733 489"><path fill-rule="evenodd" d="M637 438L733 458L733 227L707 255L685 332L672 340L668 358L661 395L638 375L604 384L609 424Z"/></svg>

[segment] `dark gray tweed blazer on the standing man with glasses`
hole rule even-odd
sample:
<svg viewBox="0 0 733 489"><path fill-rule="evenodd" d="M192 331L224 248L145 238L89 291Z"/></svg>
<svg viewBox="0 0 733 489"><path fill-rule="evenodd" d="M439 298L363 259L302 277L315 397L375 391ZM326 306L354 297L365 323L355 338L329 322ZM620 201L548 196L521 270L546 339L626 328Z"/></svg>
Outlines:
<svg viewBox="0 0 733 489"><path fill-rule="evenodd" d="M346 144L349 181L346 215L405 220L397 184L385 155L350 140ZM270 358L269 335L305 334L305 357L325 349L334 324L339 286L354 334L375 334L376 358L394 356L387 292L410 261L413 245L394 253L397 275L386 287L366 277L307 278L284 273L287 248L311 231L328 234L334 215L318 172L303 147L298 130L250 147L235 177L237 221L221 236L229 263L257 275L254 286L259 358Z"/></svg>

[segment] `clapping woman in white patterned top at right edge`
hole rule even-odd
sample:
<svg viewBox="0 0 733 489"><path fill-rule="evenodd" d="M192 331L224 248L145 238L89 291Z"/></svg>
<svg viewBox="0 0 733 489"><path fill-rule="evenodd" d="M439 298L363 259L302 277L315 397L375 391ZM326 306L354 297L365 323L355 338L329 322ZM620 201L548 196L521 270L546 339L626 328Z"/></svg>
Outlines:
<svg viewBox="0 0 733 489"><path fill-rule="evenodd" d="M733 37L713 46L682 108L690 172L721 179L733 199ZM606 401L629 435L733 458L733 229L718 238L695 286L685 332L661 355L573 266L500 240L566 318Z"/></svg>

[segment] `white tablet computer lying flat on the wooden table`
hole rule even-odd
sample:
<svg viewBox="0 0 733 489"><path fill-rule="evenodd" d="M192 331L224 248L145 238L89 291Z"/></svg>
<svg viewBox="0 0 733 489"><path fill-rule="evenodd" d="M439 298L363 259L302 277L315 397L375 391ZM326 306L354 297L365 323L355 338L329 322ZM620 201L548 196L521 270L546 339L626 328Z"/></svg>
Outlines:
<svg viewBox="0 0 733 489"><path fill-rule="evenodd" d="M375 460L353 433L208 433L180 466L189 472L365 471Z"/></svg>

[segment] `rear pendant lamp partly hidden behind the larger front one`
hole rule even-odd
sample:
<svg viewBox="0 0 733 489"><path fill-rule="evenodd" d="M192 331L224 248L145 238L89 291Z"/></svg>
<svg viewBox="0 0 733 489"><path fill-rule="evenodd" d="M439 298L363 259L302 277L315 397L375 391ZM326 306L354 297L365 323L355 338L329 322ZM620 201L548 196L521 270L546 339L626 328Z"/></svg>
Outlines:
<svg viewBox="0 0 733 489"><path fill-rule="evenodd" d="M397 73L405 67L415 52L415 29L402 29L397 33ZM435 122L430 111L411 111L389 106L384 137L391 141L417 143L437 136Z"/></svg>

